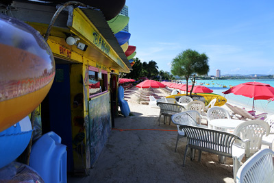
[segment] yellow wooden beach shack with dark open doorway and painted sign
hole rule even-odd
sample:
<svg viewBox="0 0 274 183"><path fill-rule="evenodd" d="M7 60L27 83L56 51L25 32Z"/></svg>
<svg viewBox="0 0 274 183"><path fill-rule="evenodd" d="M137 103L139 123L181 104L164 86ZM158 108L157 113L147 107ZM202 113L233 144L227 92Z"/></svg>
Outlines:
<svg viewBox="0 0 274 183"><path fill-rule="evenodd" d="M5 14L48 37L55 79L36 109L36 130L58 134L67 147L67 171L85 174L114 126L119 73L132 67L100 10L68 5L56 15L60 6L13 1Z"/></svg>

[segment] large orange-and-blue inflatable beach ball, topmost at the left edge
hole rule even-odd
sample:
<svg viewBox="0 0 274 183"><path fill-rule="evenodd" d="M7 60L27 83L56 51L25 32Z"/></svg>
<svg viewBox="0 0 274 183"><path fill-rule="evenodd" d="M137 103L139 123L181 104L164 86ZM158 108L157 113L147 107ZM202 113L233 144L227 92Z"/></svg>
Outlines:
<svg viewBox="0 0 274 183"><path fill-rule="evenodd" d="M0 14L0 132L31 113L55 75L49 45L31 26Z"/></svg>

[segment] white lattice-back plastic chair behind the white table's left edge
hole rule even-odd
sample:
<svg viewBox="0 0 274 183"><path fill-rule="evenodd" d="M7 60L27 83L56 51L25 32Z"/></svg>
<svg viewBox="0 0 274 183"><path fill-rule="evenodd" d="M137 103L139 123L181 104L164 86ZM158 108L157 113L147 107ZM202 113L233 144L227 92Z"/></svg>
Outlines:
<svg viewBox="0 0 274 183"><path fill-rule="evenodd" d="M221 108L218 106L210 108L206 113L206 117L208 119L209 127L212 127L212 125L210 125L210 121L212 121L213 119L231 119L229 112L225 110L225 108Z"/></svg>

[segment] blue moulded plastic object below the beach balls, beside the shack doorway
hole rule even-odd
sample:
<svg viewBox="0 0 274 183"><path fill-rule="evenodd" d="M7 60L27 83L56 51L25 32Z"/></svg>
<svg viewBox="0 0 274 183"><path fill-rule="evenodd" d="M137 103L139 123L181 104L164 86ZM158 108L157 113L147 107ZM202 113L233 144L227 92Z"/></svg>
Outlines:
<svg viewBox="0 0 274 183"><path fill-rule="evenodd" d="M61 144L58 134L44 134L32 145L29 167L46 183L66 182L66 145Z"/></svg>

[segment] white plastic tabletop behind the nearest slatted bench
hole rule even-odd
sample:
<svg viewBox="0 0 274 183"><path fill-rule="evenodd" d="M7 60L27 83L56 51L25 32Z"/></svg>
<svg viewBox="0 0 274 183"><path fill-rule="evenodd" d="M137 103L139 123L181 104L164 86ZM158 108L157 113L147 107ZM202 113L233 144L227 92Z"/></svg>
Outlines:
<svg viewBox="0 0 274 183"><path fill-rule="evenodd" d="M242 122L244 122L244 120L240 120L240 119L212 119L212 121L210 121L210 125L212 125L214 130L223 130L223 131L231 132L231 130L234 130L235 127L238 126Z"/></svg>

